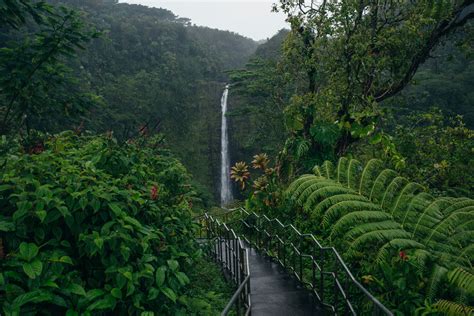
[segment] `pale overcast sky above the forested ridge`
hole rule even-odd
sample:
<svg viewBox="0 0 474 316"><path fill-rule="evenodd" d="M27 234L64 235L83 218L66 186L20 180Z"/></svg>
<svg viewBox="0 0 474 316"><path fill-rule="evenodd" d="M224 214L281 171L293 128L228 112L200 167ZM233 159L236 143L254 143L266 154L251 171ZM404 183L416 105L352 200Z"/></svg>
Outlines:
<svg viewBox="0 0 474 316"><path fill-rule="evenodd" d="M278 0L120 0L165 8L196 25L239 33L254 40L267 39L289 28L285 15L271 12Z"/></svg>

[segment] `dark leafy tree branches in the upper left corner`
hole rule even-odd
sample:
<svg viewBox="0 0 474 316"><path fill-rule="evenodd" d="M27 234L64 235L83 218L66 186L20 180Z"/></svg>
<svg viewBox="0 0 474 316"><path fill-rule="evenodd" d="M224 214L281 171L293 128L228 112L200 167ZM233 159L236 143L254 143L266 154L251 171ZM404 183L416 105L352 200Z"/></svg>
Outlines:
<svg viewBox="0 0 474 316"><path fill-rule="evenodd" d="M64 126L68 114L84 112L94 103L77 86L65 61L97 34L77 12L64 7L14 1L2 8L14 21L9 21L10 28L2 25L6 36L0 39L0 134ZM29 16L35 24L26 24Z"/></svg>

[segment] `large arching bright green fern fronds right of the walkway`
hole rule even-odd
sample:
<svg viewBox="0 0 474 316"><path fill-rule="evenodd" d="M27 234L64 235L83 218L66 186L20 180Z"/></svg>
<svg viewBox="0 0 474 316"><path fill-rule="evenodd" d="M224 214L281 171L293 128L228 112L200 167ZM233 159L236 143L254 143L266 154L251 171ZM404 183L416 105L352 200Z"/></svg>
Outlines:
<svg viewBox="0 0 474 316"><path fill-rule="evenodd" d="M429 280L429 299L436 297L449 270L458 271L453 272L453 284L462 277L460 284L472 289L472 278L455 269L473 268L474 200L434 198L420 184L382 167L378 160L365 168L354 159L341 158L336 168L325 162L313 169L316 175L294 181L287 195L325 229L330 242L343 246L339 250L346 258L382 263L394 251L410 250L411 262ZM437 304L452 310L461 306Z"/></svg>

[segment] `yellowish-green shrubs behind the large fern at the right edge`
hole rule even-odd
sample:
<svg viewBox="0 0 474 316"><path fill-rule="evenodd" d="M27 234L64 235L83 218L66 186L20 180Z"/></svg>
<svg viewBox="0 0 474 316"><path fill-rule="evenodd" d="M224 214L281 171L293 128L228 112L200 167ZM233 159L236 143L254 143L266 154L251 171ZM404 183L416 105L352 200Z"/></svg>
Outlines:
<svg viewBox="0 0 474 316"><path fill-rule="evenodd" d="M402 175L431 189L433 194L473 197L474 131L466 127L460 116L449 117L433 109L429 112L408 112L396 118L387 115L385 130L370 142L350 150L364 161L378 157L391 160L386 144L396 147L403 156Z"/></svg>

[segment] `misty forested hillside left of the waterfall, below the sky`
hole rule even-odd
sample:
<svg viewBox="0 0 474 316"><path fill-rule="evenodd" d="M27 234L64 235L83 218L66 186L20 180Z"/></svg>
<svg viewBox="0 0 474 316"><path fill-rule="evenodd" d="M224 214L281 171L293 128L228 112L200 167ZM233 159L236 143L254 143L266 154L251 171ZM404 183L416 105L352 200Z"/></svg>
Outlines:
<svg viewBox="0 0 474 316"><path fill-rule="evenodd" d="M258 44L191 26L169 10L106 0L54 2L79 8L103 33L75 67L105 104L86 127L126 139L147 123L159 126L204 191L217 194L225 71L243 67Z"/></svg>

